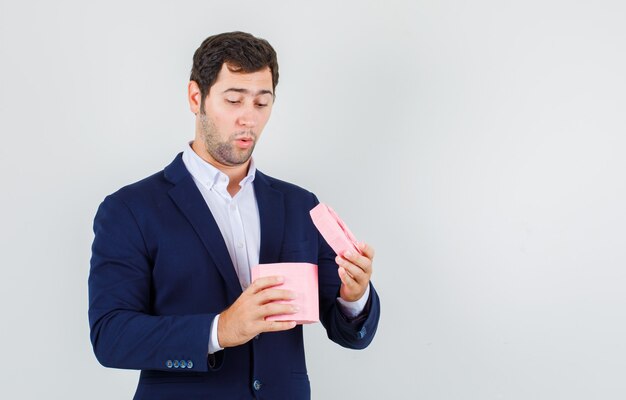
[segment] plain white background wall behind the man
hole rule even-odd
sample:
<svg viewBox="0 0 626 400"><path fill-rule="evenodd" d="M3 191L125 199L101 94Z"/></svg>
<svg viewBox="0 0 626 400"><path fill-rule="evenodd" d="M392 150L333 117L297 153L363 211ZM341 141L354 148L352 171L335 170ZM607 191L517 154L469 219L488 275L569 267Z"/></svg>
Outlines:
<svg viewBox="0 0 626 400"><path fill-rule="evenodd" d="M621 1L0 2L0 397L131 398L87 322L105 195L193 137L214 33L276 48L258 167L377 249L365 351L314 399L626 397Z"/></svg>

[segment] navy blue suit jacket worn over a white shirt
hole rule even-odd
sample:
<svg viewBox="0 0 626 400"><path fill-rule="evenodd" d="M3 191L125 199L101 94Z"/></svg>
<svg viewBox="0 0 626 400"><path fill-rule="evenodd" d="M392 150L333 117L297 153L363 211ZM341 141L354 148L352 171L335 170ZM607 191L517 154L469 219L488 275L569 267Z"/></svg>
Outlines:
<svg viewBox="0 0 626 400"><path fill-rule="evenodd" d="M261 263L319 266L320 320L328 337L361 349L379 318L373 286L348 320L336 297L335 253L309 210L316 197L257 171ZM219 228L179 154L163 171L108 196L94 221L89 323L104 366L142 370L136 399L308 399L302 326L263 333L207 356L216 314L241 294Z"/></svg>

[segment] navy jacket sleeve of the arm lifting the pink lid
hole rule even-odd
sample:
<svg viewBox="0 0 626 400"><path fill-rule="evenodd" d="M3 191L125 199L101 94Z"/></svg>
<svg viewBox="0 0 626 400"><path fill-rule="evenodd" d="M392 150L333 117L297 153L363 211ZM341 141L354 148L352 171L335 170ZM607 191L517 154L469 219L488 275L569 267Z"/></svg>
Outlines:
<svg viewBox="0 0 626 400"><path fill-rule="evenodd" d="M319 201L315 198L315 204ZM364 349L374 339L380 318L380 300L370 282L370 295L361 315L354 319L346 317L339 307L337 297L341 280L335 263L335 252L318 233L318 275L320 292L320 321L328 338L350 349Z"/></svg>

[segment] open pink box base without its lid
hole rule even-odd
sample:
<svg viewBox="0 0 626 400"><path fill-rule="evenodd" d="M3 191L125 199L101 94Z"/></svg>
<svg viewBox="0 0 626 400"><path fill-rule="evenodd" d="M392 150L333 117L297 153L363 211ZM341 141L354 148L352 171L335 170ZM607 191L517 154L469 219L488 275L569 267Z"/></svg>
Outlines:
<svg viewBox="0 0 626 400"><path fill-rule="evenodd" d="M252 267L252 281L265 276L283 276L285 281L276 286L296 293L293 303L300 308L296 314L272 315L268 321L296 321L298 324L312 324L320 320L317 289L317 265L309 263L259 264Z"/></svg>

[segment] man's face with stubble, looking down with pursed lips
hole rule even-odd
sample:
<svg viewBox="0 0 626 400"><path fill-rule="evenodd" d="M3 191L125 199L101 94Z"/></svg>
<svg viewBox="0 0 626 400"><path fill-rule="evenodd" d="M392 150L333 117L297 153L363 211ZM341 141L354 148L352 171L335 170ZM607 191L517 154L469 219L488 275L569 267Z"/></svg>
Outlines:
<svg viewBox="0 0 626 400"><path fill-rule="evenodd" d="M215 84L200 106L190 83L189 97L196 113L196 142L200 156L217 167L244 165L267 123L273 105L269 68L252 73L231 72L222 66Z"/></svg>

